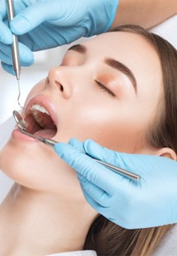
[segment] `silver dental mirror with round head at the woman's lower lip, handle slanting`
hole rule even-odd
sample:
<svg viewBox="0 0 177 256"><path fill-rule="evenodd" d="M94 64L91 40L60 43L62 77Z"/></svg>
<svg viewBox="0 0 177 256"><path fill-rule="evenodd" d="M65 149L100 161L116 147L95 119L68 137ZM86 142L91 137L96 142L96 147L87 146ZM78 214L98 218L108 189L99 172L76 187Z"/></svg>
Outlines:
<svg viewBox="0 0 177 256"><path fill-rule="evenodd" d="M43 137L39 137L39 136L36 136L36 135L32 135L28 132L26 132L26 122L23 120L22 116L19 114L19 112L17 111L13 111L13 116L15 118L15 121L18 125L18 127L21 129L21 132L25 135L28 135L32 138L35 138L36 140L40 140L41 142L43 142L45 145L49 145L49 146L52 146L54 148L54 145L56 143L58 143L58 141L56 140L51 140L51 139L48 139L48 138L43 138ZM89 155L90 156L90 155ZM90 156L91 157L91 156ZM92 157L91 157L92 158ZM92 158L92 159L95 159L95 158ZM105 167L109 168L111 171L115 172L115 173L120 173L120 174L123 174L123 176L126 176L128 178L132 178L132 179L135 179L135 180L139 180L141 177L135 173L131 173L131 172L128 172L126 170L124 170L123 168L118 168L117 166L114 166L113 164L107 164L99 159L95 159L95 161L99 164L102 164L104 165Z"/></svg>

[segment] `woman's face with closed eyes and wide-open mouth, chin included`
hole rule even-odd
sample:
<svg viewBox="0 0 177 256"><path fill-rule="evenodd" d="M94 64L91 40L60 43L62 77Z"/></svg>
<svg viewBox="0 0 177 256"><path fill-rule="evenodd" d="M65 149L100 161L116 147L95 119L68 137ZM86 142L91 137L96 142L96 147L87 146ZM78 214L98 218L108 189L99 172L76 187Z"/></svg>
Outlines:
<svg viewBox="0 0 177 256"><path fill-rule="evenodd" d="M62 64L32 89L23 113L27 130L60 142L92 139L116 151L151 154L145 134L162 97L161 80L156 51L142 36L96 36L68 50ZM20 131L2 149L0 168L33 189L64 197L76 197L80 190L76 173L54 149Z"/></svg>

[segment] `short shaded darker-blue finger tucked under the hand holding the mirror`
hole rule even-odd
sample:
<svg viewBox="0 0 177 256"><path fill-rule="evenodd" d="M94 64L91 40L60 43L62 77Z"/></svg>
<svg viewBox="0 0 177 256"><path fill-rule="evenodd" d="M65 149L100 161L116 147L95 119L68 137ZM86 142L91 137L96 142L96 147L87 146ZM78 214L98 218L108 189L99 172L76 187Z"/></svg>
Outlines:
<svg viewBox="0 0 177 256"><path fill-rule="evenodd" d="M107 206L109 201L109 194L102 190L100 187L91 183L87 178L83 177L80 173L77 173L77 178L82 185L84 191L100 206Z"/></svg>

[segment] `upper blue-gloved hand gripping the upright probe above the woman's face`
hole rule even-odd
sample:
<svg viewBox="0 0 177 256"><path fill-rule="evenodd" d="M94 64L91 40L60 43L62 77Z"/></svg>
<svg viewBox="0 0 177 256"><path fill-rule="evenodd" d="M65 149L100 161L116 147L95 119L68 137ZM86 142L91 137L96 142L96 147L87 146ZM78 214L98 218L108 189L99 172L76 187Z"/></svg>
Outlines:
<svg viewBox="0 0 177 256"><path fill-rule="evenodd" d="M16 17L11 30L19 36L21 65L33 64L31 51L54 48L107 31L114 21L119 0L16 0ZM2 68L12 70L10 44L12 33L7 28L7 7L0 1L0 59Z"/></svg>

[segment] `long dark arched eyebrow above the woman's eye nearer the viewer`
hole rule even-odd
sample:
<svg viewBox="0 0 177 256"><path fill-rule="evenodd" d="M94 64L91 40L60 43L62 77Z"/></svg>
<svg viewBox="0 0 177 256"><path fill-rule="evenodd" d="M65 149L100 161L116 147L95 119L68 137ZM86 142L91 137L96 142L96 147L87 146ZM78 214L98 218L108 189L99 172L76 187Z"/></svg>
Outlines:
<svg viewBox="0 0 177 256"><path fill-rule="evenodd" d="M110 58L105 59L105 64L108 64L111 68L117 69L120 72L124 73L129 78L129 80L133 83L133 88L134 88L135 92L137 93L137 80L136 80L135 76L133 75L132 71L130 69L128 69L127 66L125 66L118 60L110 59Z"/></svg>

